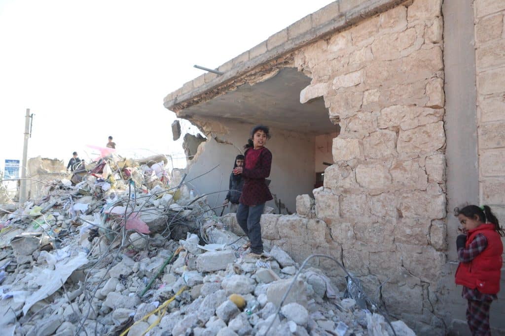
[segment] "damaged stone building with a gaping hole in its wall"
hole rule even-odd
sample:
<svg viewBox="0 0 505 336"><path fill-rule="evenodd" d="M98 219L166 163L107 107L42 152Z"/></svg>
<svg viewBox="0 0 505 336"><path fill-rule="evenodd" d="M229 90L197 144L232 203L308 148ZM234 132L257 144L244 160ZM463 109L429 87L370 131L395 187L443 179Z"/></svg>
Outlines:
<svg viewBox="0 0 505 336"><path fill-rule="evenodd" d="M270 126L267 246L342 260L419 334L466 332L452 209L486 204L505 221L504 13L491 0L340 0L302 18L165 97L207 138L186 141L188 177L220 165L194 184L226 190L251 126ZM491 325L505 332L502 293Z"/></svg>

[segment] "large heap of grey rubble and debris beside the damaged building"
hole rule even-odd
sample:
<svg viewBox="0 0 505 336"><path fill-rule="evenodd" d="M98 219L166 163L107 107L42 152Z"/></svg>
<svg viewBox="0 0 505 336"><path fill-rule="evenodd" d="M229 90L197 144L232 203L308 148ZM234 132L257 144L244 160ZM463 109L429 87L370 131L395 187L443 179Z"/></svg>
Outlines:
<svg viewBox="0 0 505 336"><path fill-rule="evenodd" d="M277 246L250 258L166 163L111 154L0 205L4 336L415 334L352 275L338 289Z"/></svg>

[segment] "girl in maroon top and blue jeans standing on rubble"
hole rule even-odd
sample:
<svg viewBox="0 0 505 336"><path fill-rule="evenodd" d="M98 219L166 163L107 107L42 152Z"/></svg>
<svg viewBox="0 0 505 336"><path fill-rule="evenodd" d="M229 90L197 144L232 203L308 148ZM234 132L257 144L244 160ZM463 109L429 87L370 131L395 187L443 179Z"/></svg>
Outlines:
<svg viewBox="0 0 505 336"><path fill-rule="evenodd" d="M257 125L251 130L251 138L244 146L244 166L233 169L242 175L244 186L237 210L237 222L249 238L250 253L254 258L263 256L260 220L265 203L273 199L266 178L270 176L272 153L265 147L270 139L269 128ZM247 248L248 244L244 245Z"/></svg>

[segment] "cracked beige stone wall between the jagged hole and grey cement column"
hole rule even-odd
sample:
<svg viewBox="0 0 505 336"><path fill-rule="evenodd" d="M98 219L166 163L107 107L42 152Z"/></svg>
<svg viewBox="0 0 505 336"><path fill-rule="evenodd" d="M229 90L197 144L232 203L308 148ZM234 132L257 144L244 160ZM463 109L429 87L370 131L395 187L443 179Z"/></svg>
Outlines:
<svg viewBox="0 0 505 336"><path fill-rule="evenodd" d="M341 131L314 218L277 222L289 228L282 238L310 237L291 253L328 249L369 293L384 284L387 309L420 334L444 329L435 309L447 248L441 5L407 2L295 53L312 78L302 99L322 95Z"/></svg>

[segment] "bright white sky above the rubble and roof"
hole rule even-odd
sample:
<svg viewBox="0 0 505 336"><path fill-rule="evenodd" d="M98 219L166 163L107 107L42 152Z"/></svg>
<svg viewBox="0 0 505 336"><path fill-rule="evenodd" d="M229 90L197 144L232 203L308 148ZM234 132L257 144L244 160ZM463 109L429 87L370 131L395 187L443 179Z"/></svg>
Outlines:
<svg viewBox="0 0 505 336"><path fill-rule="evenodd" d="M109 135L183 155L163 98L204 73L193 64L216 68L329 2L0 0L0 169L22 157L26 108L28 157L88 158Z"/></svg>

